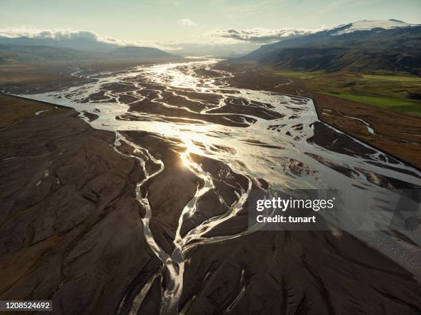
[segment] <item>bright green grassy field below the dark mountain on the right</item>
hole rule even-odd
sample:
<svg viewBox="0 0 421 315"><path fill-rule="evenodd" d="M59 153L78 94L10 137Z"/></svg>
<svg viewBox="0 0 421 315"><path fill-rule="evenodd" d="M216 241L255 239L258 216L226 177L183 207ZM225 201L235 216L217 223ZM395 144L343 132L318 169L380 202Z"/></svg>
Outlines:
<svg viewBox="0 0 421 315"><path fill-rule="evenodd" d="M344 72L272 72L301 80L304 87L338 98L421 116L421 78L391 74L349 74Z"/></svg>

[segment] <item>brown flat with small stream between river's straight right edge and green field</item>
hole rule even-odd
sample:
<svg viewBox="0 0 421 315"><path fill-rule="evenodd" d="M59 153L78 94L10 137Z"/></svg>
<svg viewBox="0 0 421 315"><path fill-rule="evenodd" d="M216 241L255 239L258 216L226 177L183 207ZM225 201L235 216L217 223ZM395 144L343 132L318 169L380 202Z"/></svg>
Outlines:
<svg viewBox="0 0 421 315"><path fill-rule="evenodd" d="M421 168L421 118L314 93L319 119Z"/></svg>

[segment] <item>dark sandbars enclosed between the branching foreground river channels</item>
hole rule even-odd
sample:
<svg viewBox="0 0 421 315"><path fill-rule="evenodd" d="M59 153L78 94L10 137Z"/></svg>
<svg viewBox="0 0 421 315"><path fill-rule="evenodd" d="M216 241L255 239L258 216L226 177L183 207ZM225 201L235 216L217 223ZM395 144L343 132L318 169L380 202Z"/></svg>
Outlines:
<svg viewBox="0 0 421 315"><path fill-rule="evenodd" d="M202 188L204 181L182 163L180 153L183 149L180 149L180 143L177 140L163 140L158 135L140 131L125 131L122 132L122 135L125 135L127 140L142 144L142 147L155 158L164 162L164 171L151 177L142 186L142 192L148 193L152 209L149 226L154 239L165 252L171 253L174 250L173 240L178 226L178 218L184 206L195 195L196 189ZM134 153L131 148L124 147L125 145L127 144L123 144L119 149L125 153L139 155L139 153ZM143 154L139 156L143 159L146 158ZM199 155L192 154L191 158L213 178L215 188L197 199L194 215L186 217L182 224L180 230L182 236L206 219L225 213L229 206L237 202L236 193L240 195L241 191L247 191L248 188L248 179L244 175L235 173L226 164ZM152 164L153 162L147 159L147 169L150 173L157 171ZM259 188L257 184L253 185L253 188ZM206 237L235 234L246 230L247 227L248 215L245 207L237 217L217 226L207 233Z"/></svg>

